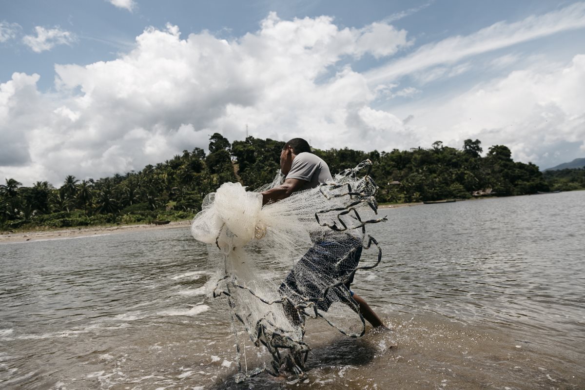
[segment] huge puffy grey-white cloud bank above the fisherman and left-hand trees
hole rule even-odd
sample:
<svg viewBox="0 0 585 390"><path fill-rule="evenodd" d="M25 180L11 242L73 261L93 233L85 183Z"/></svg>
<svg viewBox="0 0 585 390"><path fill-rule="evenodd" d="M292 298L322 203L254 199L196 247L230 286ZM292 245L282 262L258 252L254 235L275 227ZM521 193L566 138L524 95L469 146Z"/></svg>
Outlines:
<svg viewBox="0 0 585 390"><path fill-rule="evenodd" d="M19 164L30 167L5 161L0 176L55 184L67 174L105 177L207 149L214 132L243 139L246 124L253 136L304 136L328 148L357 146L359 127L346 125L353 118L371 134L357 147L379 148L400 120L367 108L375 94L350 67L321 78L341 58L394 53L408 44L405 35L383 23L339 29L326 16L281 20L274 13L258 32L229 42L205 31L181 39L172 25L146 29L116 60L56 65L56 94L40 94L38 78L30 79L26 88L40 100L26 112L35 117L13 111L24 100L12 95L0 104L7 109L0 134L19 118L27 153Z"/></svg>

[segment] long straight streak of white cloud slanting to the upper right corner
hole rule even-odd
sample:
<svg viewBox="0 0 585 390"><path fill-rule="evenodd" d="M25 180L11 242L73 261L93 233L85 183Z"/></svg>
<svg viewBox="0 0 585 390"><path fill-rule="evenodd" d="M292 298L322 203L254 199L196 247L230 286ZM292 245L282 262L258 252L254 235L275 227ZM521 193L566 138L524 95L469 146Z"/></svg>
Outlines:
<svg viewBox="0 0 585 390"><path fill-rule="evenodd" d="M498 22L468 36L449 37L419 47L409 56L366 73L371 84L393 81L440 64L502 49L558 32L585 27L585 3L576 3L540 16L514 23Z"/></svg>

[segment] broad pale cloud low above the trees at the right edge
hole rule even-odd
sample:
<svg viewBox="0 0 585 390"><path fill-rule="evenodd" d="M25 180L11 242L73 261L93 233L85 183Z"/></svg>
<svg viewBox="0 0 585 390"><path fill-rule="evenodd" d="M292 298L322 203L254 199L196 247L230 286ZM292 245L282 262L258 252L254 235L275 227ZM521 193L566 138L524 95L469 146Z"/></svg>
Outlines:
<svg viewBox="0 0 585 390"><path fill-rule="evenodd" d="M423 146L442 140L461 147L464 139L479 139L484 151L505 144L515 159L546 168L555 165L548 151L569 143L577 149L585 139L583 85L585 54L569 64L533 64L415 108L409 125L424 134Z"/></svg>

